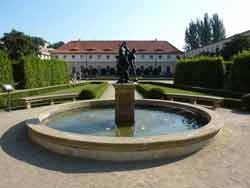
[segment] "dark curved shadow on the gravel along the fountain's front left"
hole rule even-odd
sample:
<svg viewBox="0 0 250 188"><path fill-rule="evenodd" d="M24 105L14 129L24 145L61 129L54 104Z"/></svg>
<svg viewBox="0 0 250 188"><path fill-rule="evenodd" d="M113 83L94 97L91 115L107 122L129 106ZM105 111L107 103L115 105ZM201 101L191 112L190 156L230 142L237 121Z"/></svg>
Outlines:
<svg viewBox="0 0 250 188"><path fill-rule="evenodd" d="M64 173L98 173L111 171L128 171L153 168L181 160L155 160L142 162L108 162L63 156L52 153L28 140L27 128L21 122L1 137L0 144L7 154L28 164Z"/></svg>

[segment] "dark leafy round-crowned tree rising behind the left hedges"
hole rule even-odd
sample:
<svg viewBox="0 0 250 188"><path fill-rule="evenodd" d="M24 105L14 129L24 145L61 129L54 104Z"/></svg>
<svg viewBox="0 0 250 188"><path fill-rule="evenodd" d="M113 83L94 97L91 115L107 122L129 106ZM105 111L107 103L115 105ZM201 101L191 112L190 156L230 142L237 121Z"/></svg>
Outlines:
<svg viewBox="0 0 250 188"><path fill-rule="evenodd" d="M11 59L18 60L22 56L38 54L39 47L32 42L32 38L22 32L12 30L5 33L1 39Z"/></svg>

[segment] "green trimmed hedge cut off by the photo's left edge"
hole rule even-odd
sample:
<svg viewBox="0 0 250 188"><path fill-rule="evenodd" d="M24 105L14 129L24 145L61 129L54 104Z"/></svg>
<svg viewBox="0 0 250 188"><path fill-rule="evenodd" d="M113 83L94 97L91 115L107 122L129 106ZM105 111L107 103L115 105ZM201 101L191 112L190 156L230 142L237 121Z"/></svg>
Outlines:
<svg viewBox="0 0 250 188"><path fill-rule="evenodd" d="M0 50L0 85L13 84L12 66L7 54Z"/></svg>

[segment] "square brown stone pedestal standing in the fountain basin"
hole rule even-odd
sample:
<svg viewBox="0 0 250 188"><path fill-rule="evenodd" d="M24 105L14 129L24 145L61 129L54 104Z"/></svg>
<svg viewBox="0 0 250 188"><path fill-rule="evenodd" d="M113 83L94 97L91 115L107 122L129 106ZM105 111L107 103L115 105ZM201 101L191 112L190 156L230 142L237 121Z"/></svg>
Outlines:
<svg viewBox="0 0 250 188"><path fill-rule="evenodd" d="M134 83L113 84L115 88L115 121L118 127L134 126L135 85Z"/></svg>

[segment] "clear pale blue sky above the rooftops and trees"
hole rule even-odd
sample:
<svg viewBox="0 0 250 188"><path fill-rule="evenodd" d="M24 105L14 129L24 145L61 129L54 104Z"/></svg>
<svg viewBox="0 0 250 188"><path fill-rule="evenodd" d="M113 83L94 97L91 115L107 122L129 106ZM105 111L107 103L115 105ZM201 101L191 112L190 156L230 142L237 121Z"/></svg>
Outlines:
<svg viewBox="0 0 250 188"><path fill-rule="evenodd" d="M12 29L50 43L167 40L183 49L191 19L218 13L226 35L250 30L249 0L1 0L0 37Z"/></svg>

